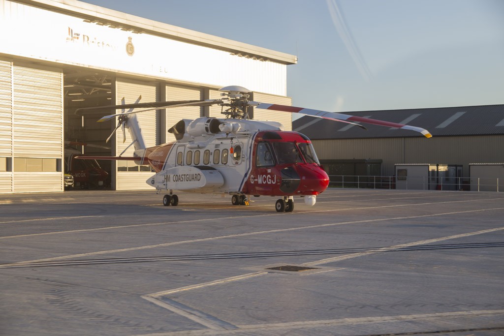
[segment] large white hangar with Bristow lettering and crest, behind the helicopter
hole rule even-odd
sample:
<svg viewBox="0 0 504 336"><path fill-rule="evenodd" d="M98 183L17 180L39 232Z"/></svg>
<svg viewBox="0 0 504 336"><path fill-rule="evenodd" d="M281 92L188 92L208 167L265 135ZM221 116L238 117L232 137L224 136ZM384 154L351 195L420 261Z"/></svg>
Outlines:
<svg viewBox="0 0 504 336"><path fill-rule="evenodd" d="M87 3L0 0L0 31L0 193L62 191L65 142L105 145L114 122L97 123L102 114L78 116L80 107L120 104L123 97L127 104L140 96L141 102L216 99L229 85L254 91L256 101L291 104L293 55ZM167 129L178 120L220 112L181 107L139 120L147 146L154 146L172 140ZM254 113L291 129L288 113ZM129 142L117 132L109 144L74 150L117 156ZM150 188L150 168L128 164L102 164L112 189Z"/></svg>

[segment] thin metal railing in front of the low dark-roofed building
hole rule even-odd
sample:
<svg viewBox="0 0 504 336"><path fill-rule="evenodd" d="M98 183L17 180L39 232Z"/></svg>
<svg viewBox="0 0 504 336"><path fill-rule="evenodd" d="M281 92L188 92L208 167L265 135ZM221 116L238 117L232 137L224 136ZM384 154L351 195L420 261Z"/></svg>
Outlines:
<svg viewBox="0 0 504 336"><path fill-rule="evenodd" d="M492 177L329 175L330 187L407 190L504 191L504 180Z"/></svg>

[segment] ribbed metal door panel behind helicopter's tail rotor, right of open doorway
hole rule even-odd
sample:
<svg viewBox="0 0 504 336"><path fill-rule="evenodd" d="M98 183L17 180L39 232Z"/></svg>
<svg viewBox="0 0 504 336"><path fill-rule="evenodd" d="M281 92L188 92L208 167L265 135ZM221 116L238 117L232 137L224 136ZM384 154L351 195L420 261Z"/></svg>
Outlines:
<svg viewBox="0 0 504 336"><path fill-rule="evenodd" d="M127 79L116 79L115 92L116 104L120 104L123 97L126 104L133 104L139 96L142 96L141 102L158 101L159 96L157 83L137 82ZM159 112L138 113L137 118L142 127L145 145L147 147L158 145L160 141ZM115 127L116 124L117 118L115 123L111 124L111 127ZM126 142L122 143L122 131L119 128L115 135L115 155L121 154L131 142L131 137L127 131ZM134 146L131 146L124 152L123 156L133 156L134 151ZM112 183L113 185L115 183L116 190L152 189L145 181L154 173L150 171L117 171L117 166L120 164L126 164L126 161L118 162L115 165L116 168L113 169L116 178L114 181L112 177ZM128 162L128 164L133 164L133 162Z"/></svg>

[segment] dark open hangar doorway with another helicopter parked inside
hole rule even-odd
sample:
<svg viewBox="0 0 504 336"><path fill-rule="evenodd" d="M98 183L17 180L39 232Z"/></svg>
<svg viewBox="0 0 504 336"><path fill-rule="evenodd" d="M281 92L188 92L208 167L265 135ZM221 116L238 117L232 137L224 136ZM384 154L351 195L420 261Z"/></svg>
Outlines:
<svg viewBox="0 0 504 336"><path fill-rule="evenodd" d="M81 107L113 105L114 78L107 74L64 71L64 140L65 173L74 176L75 188L110 188L112 168L110 161L78 160L76 155L110 156L109 122L97 122L108 112L75 114Z"/></svg>

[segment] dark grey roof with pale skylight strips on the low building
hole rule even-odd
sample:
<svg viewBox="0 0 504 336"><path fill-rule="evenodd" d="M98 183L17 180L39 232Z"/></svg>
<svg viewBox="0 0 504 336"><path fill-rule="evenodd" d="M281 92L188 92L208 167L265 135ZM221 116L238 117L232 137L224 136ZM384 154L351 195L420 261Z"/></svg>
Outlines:
<svg viewBox="0 0 504 336"><path fill-rule="evenodd" d="M433 137L504 135L504 105L342 113L422 127L427 129ZM411 130L364 125L368 129L367 131L343 122L303 116L292 122L292 130L303 133L312 140L421 136Z"/></svg>

